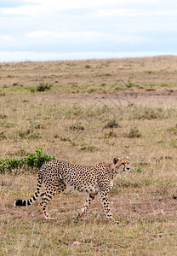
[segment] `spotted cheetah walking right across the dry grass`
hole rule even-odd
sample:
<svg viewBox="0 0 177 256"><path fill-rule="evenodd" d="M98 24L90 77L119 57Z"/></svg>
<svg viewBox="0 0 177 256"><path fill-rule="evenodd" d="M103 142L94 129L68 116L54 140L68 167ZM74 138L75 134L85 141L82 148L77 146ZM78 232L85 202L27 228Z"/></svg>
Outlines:
<svg viewBox="0 0 177 256"><path fill-rule="evenodd" d="M106 218L112 223L117 223L111 214L108 192L111 190L113 179L117 177L117 174L129 171L128 158L114 158L111 163L99 163L95 166L80 166L63 160L52 160L43 164L39 170L37 190L31 199L14 201L14 207L30 206L41 195L42 201L40 205L44 218L51 219L47 210L49 201L52 200L57 191L60 193L68 188L74 192L88 195L77 218L83 216L88 210L91 201L94 200L95 195L99 194L100 201L106 212ZM41 193L42 183L45 186L45 192L43 193Z"/></svg>

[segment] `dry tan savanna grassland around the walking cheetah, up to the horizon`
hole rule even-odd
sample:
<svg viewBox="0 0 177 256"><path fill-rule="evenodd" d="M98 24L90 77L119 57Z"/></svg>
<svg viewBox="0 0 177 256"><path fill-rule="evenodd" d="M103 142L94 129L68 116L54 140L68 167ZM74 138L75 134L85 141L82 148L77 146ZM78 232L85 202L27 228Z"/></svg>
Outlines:
<svg viewBox="0 0 177 256"><path fill-rule="evenodd" d="M73 216L85 195L69 190L46 221L29 199L37 171L1 169L0 255L177 255L177 57L0 63L0 157L45 154L94 165L129 157L109 195Z"/></svg>

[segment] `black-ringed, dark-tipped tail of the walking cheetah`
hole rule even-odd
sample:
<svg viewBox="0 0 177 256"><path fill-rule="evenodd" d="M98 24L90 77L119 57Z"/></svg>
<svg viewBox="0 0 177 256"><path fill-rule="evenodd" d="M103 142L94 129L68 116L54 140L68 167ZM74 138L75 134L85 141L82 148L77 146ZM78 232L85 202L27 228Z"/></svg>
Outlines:
<svg viewBox="0 0 177 256"><path fill-rule="evenodd" d="M34 201L37 200L37 197L40 195L41 187L43 183L43 175L42 172L39 171L38 173L38 179L37 179L37 190L34 193L34 195L29 200L21 200L18 199L17 201L14 201L14 207L27 207L30 206Z"/></svg>

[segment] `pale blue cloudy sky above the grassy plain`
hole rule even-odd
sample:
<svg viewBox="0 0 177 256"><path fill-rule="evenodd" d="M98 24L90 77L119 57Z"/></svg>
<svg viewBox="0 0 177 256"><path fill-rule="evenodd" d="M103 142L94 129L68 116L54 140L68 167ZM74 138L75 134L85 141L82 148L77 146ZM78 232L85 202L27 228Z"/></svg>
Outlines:
<svg viewBox="0 0 177 256"><path fill-rule="evenodd" d="M177 55L176 0L0 0L0 61Z"/></svg>

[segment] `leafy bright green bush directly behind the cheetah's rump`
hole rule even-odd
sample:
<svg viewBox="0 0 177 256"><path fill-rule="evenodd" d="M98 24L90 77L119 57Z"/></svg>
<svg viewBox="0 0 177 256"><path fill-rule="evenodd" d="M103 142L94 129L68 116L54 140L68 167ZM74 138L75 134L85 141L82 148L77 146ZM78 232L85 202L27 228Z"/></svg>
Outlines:
<svg viewBox="0 0 177 256"><path fill-rule="evenodd" d="M43 154L43 148L38 148L36 154L26 152L24 157L20 158L0 158L0 173L12 172L13 169L20 169L22 166L29 166L31 169L39 169L43 163L54 160L54 156Z"/></svg>

